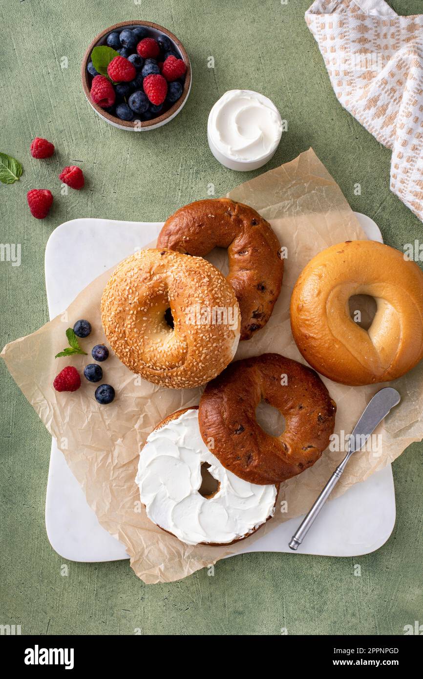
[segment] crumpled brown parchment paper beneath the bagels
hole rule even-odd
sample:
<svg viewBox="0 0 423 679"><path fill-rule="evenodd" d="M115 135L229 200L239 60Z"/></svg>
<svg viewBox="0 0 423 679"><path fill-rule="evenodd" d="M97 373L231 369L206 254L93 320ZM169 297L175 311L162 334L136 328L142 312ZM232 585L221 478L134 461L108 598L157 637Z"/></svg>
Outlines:
<svg viewBox="0 0 423 679"><path fill-rule="evenodd" d="M272 317L253 339L240 343L236 358L272 351L304 363L289 325L289 299L295 280L320 250L343 240L365 238L365 234L341 190L312 149L240 185L228 196L257 209L272 224L280 244L287 248L282 292ZM212 254L211 261L225 272L225 253ZM98 521L126 546L136 575L145 583L175 581L246 545L245 540L229 547L184 545L151 524L139 502L134 478L139 451L147 435L174 410L198 404L201 390L170 390L150 384L131 373L113 352L103 364L106 381L113 384L117 392L110 405L96 403L94 386L84 378L81 388L71 394L57 393L52 386L55 375L65 365L75 365L82 373L89 362L89 356L54 359L66 345L66 328L75 320L88 318L92 323L93 331L88 340L81 340L82 346L107 344L100 323L100 297L110 274L105 272L88 285L65 314L32 335L7 344L1 356L45 426L56 437ZM381 386L353 388L325 378L324 382L337 403L335 434L342 439L342 432L345 435L351 432L361 411ZM422 366L392 385L401 393L402 401L375 432L380 435L378 440L382 445L376 451L353 456L333 497L344 493L353 483L364 481L397 458L409 443L423 438ZM270 414L266 417L272 430L272 418ZM274 518L247 540L255 540L280 521L306 512L343 457L343 450L328 449L311 469L283 483ZM287 500L288 509L284 513L280 511L283 500Z"/></svg>

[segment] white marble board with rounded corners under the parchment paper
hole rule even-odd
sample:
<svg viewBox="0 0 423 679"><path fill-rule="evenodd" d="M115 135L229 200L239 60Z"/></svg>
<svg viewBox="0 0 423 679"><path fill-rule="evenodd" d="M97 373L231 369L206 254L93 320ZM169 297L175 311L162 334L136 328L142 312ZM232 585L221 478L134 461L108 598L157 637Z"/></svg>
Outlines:
<svg viewBox="0 0 423 679"><path fill-rule="evenodd" d="M357 213L367 237L382 241L377 225ZM110 219L73 219L54 230L45 249L45 287L50 318L71 304L96 276L134 249L154 240L162 223ZM93 251L96 257L92 257ZM288 552L288 543L302 517L285 521L242 551ZM293 553L355 556L381 547L395 522L391 466L341 497L328 502L316 524ZM53 549L66 559L81 562L126 559L125 547L105 530L88 507L84 492L52 440L45 500L45 526Z"/></svg>

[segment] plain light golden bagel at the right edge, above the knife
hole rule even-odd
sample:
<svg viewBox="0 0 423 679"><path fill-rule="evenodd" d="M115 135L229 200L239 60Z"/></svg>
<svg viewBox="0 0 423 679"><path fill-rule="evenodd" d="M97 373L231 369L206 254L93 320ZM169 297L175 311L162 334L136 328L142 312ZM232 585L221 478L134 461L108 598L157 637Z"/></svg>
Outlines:
<svg viewBox="0 0 423 679"><path fill-rule="evenodd" d="M353 295L375 298L368 331L350 316ZM423 357L423 272L375 240L333 245L295 283L291 328L304 359L334 382L395 380Z"/></svg>

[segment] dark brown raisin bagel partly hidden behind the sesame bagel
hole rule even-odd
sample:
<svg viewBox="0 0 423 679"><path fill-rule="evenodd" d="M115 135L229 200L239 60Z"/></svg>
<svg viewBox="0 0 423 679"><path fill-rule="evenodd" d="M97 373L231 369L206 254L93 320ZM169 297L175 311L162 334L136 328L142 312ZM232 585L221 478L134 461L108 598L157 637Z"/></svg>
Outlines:
<svg viewBox="0 0 423 679"><path fill-rule="evenodd" d="M198 200L164 223L158 248L204 257L227 249L229 274L241 312L241 339L265 325L280 293L283 261L270 224L253 208L229 198Z"/></svg>

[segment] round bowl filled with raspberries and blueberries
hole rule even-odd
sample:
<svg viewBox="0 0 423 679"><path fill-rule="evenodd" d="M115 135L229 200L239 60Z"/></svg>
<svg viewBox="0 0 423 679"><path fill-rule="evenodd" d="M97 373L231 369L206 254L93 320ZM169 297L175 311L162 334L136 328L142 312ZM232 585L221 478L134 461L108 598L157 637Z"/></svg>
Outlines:
<svg viewBox="0 0 423 679"><path fill-rule="evenodd" d="M81 77L94 111L122 130L168 123L191 89L191 65L181 41L147 21L122 22L97 35Z"/></svg>

